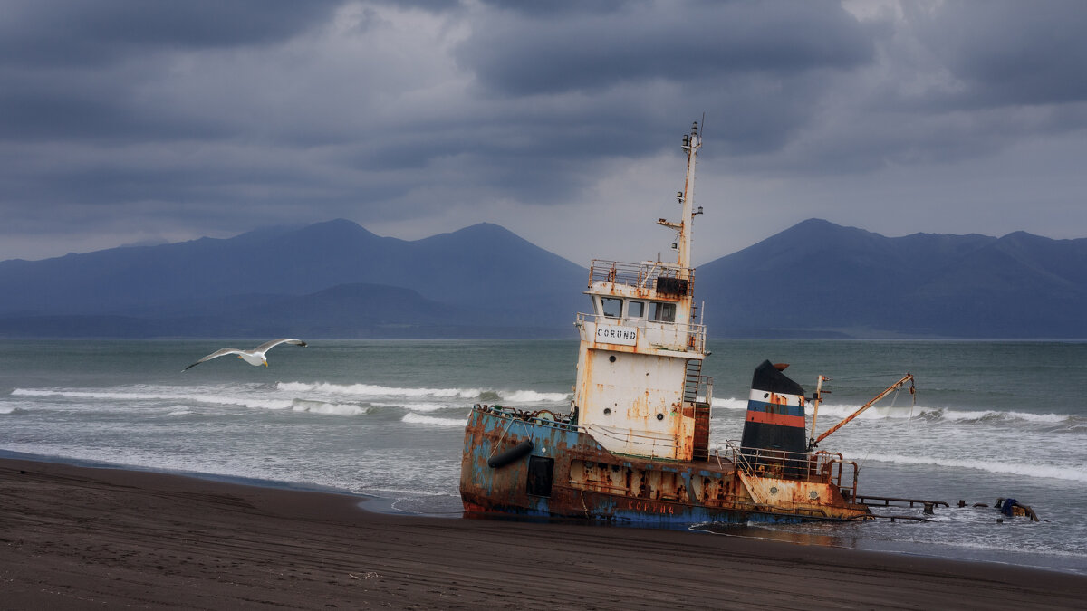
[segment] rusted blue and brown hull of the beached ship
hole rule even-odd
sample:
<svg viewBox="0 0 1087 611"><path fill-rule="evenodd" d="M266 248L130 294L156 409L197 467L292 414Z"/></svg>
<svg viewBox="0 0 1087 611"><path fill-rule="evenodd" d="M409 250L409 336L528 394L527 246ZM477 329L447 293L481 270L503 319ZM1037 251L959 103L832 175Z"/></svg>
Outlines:
<svg viewBox="0 0 1087 611"><path fill-rule="evenodd" d="M476 406L463 457L460 491L470 513L664 527L870 515L842 495L845 463L834 454L804 457L801 467L792 457L735 452L697 462L629 457L609 452L575 424ZM855 487L846 488L851 492Z"/></svg>

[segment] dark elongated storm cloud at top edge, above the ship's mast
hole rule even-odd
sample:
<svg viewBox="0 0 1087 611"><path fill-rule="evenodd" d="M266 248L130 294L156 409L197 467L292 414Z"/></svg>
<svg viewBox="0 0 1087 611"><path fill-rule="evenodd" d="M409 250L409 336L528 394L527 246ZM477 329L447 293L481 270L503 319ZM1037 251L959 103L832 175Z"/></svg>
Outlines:
<svg viewBox="0 0 1087 611"><path fill-rule="evenodd" d="M499 13L460 50L480 83L514 96L599 90L621 83L780 77L871 61L871 40L829 2L632 3L576 18ZM500 50L500 52L496 52Z"/></svg>

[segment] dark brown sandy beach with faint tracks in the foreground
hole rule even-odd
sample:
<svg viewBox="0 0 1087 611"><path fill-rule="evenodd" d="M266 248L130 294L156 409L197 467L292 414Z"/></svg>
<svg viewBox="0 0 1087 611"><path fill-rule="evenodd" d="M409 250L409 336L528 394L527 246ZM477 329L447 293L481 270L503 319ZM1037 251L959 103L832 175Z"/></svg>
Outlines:
<svg viewBox="0 0 1087 611"><path fill-rule="evenodd" d="M1039 609L1087 576L0 460L0 608Z"/></svg>

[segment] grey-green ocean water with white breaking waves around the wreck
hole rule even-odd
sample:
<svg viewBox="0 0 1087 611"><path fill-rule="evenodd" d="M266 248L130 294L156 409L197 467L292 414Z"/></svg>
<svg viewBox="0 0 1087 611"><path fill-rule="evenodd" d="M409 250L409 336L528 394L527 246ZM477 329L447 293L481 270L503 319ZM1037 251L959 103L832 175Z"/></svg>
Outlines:
<svg viewBox="0 0 1087 611"><path fill-rule="evenodd" d="M2 340L0 453L335 488L457 516L471 404L565 411L577 359L574 340L342 340L277 347L268 367L221 358L182 372L223 346L258 342ZM887 397L820 448L858 461L861 495L952 506L922 523L715 534L1087 573L1087 344L712 340L710 349L712 446L740 438L763 359L790 363L786 374L809 395L816 375L832 378L820 432L913 373L916 396ZM1042 521L998 522L999 497ZM967 507L954 507L960 499Z"/></svg>

